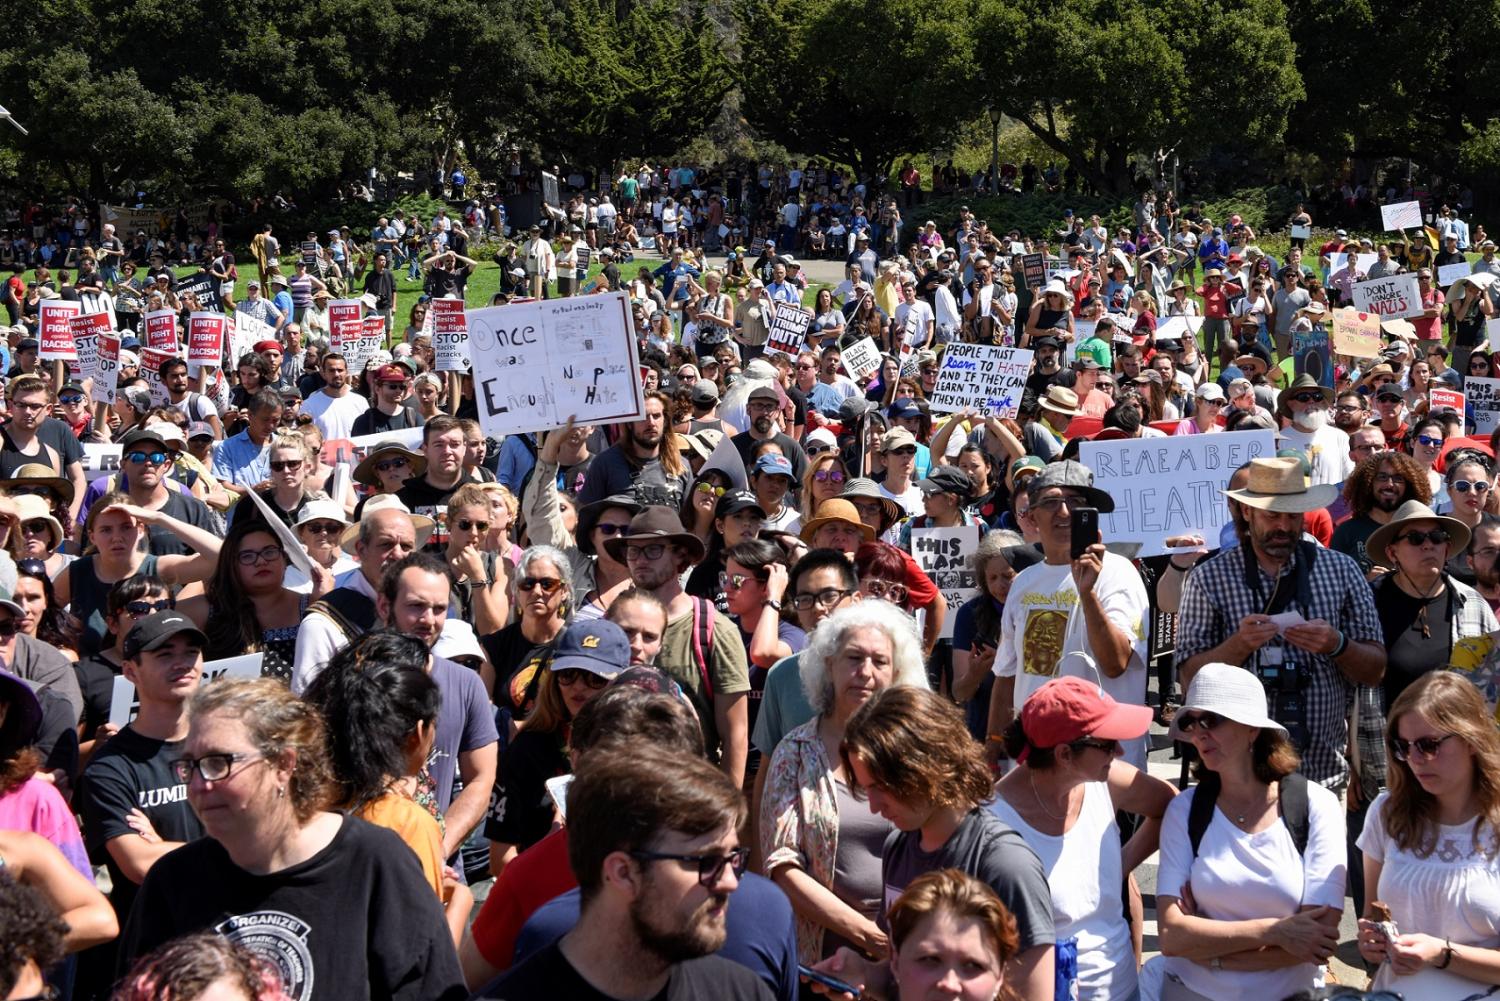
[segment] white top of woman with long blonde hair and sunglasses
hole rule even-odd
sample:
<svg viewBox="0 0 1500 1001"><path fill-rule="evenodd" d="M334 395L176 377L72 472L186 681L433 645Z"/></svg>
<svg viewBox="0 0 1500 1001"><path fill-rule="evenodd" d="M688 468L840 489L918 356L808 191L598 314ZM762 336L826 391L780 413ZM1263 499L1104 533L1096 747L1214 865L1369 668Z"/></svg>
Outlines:
<svg viewBox="0 0 1500 1001"><path fill-rule="evenodd" d="M1380 885L1372 899L1390 905L1390 917L1402 933L1422 932L1455 945L1500 948L1500 858L1474 851L1473 824L1438 827L1437 846L1419 858L1396 846L1386 833L1382 792L1365 813L1365 830L1356 842L1366 858L1380 863ZM1482 830L1488 845L1492 831ZM1488 984L1454 972L1425 966L1410 977L1396 977L1389 965L1376 974L1376 987L1400 990L1408 998L1464 998Z"/></svg>

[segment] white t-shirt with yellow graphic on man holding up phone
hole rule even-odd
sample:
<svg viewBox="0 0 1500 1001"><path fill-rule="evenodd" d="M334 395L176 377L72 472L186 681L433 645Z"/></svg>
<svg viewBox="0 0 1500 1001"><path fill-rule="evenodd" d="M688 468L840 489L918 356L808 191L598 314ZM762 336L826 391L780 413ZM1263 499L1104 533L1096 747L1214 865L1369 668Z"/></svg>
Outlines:
<svg viewBox="0 0 1500 1001"><path fill-rule="evenodd" d="M1094 584L1104 615L1131 638L1125 674L1107 678L1076 653L1089 653L1089 632L1078 605L1078 588L1070 564L1036 563L1011 581L1000 617L1000 644L994 651L994 677L1016 678L1014 708L1018 713L1032 692L1047 681L1077 675L1096 681L1116 702L1146 704L1146 638L1150 635L1150 602L1146 585L1130 560L1104 554L1104 567ZM1122 741L1125 761L1146 767L1146 738Z"/></svg>

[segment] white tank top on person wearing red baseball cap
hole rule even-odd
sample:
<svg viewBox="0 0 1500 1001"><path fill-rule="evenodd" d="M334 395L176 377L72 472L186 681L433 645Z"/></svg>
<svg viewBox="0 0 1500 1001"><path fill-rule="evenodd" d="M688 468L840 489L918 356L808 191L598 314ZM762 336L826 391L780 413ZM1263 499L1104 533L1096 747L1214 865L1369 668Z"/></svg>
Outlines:
<svg viewBox="0 0 1500 1001"><path fill-rule="evenodd" d="M1120 831L1108 783L1084 783L1083 809L1064 834L1034 830L999 795L990 812L1026 840L1047 870L1056 938L1078 939L1078 1001L1134 998L1136 953L1120 900Z"/></svg>

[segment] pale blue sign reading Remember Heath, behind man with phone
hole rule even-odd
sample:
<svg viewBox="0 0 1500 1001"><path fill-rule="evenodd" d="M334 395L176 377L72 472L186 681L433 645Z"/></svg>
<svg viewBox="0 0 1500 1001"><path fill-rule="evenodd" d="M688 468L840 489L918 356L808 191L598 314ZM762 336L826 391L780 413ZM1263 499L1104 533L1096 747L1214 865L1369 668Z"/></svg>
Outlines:
<svg viewBox="0 0 1500 1001"><path fill-rule="evenodd" d="M1224 431L1168 438L1084 441L1078 461L1094 485L1114 498L1100 515L1106 543L1140 543L1142 557L1162 555L1168 536L1216 542L1228 521L1221 492L1242 464L1276 453L1272 431Z"/></svg>

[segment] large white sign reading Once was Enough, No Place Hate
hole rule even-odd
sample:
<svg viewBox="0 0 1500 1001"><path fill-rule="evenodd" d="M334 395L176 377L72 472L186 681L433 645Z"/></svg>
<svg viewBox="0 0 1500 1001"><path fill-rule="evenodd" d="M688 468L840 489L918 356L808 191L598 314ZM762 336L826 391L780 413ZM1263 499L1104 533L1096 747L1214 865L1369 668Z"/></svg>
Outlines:
<svg viewBox="0 0 1500 1001"><path fill-rule="evenodd" d="M474 396L486 434L639 420L640 354L624 293L468 314Z"/></svg>

